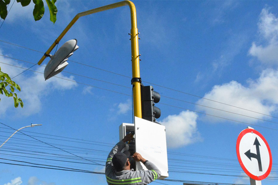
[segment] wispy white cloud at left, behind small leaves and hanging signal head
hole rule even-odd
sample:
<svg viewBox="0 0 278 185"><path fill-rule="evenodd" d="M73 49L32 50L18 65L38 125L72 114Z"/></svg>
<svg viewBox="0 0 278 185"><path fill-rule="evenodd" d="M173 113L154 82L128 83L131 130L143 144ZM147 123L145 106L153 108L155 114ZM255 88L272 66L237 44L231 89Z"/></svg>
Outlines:
<svg viewBox="0 0 278 185"><path fill-rule="evenodd" d="M2 51L0 50L0 54ZM30 66L24 66L20 63L17 63L11 59L7 59L3 56L0 56L0 62L4 62L11 65L20 66L23 68L28 68ZM2 72L8 73L8 75L12 78L19 73L23 72L24 69L9 66L6 64L1 63L1 70ZM43 72L44 67L33 67L32 70ZM28 73L28 75L26 75ZM73 80L73 76L65 77L61 73L57 75L61 78L66 78L67 80L59 79L59 78L50 78L49 80L45 81L43 74L32 72L24 72L23 74L19 75L18 77L12 79L21 87L21 92L17 92L18 97L22 99L24 102L23 108L17 108L17 113L21 115L31 115L40 112L41 110L41 98L45 97L50 91L53 90L67 90L72 89L77 86L77 83ZM0 102L0 115L5 115L6 111L15 109L14 108L14 101L11 97L5 97L1 95L1 102Z"/></svg>

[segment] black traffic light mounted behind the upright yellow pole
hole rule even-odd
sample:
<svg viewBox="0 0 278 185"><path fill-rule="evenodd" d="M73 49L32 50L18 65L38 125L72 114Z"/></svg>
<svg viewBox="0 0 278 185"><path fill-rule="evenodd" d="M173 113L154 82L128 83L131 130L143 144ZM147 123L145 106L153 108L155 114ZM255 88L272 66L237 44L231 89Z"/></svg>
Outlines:
<svg viewBox="0 0 278 185"><path fill-rule="evenodd" d="M155 122L155 119L160 117L160 108L154 106L154 103L158 103L159 100L160 94L154 91L153 86L143 86L141 84L141 106L143 119Z"/></svg>

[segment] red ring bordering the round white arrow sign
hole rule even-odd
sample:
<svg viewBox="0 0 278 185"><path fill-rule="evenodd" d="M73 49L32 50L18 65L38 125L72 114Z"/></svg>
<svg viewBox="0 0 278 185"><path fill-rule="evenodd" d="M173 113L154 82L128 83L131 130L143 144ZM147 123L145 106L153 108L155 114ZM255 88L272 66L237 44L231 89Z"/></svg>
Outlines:
<svg viewBox="0 0 278 185"><path fill-rule="evenodd" d="M268 166L268 169L267 171L261 175L261 176L255 176L253 174L251 174L247 169L246 167L244 166L243 162L241 161L241 158L240 158L240 154L239 154L239 143L242 139L242 137L249 133L249 132L253 132L255 134L257 134L262 140L263 142L267 145L267 150L268 150L268 153L269 153L269 166ZM271 167L272 167L272 155L271 155L271 151L270 151L270 147L267 143L267 140L263 137L263 135L261 135L260 132L258 132L257 130L254 130L254 129L244 129L243 131L240 132L240 134L238 135L238 139L237 139L237 145L236 145L236 151L237 151L237 156L238 156L238 162L241 166L241 168L243 169L243 171L249 176L251 177L252 179L254 180L263 180L265 178L267 178L267 176L270 174L270 171L271 171Z"/></svg>

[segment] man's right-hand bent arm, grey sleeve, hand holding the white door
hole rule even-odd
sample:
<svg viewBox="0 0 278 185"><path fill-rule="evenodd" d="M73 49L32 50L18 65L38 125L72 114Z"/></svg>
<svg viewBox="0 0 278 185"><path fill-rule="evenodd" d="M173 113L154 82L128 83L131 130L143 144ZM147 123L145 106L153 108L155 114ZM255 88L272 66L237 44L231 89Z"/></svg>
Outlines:
<svg viewBox="0 0 278 185"><path fill-rule="evenodd" d="M132 157L135 161L140 161L141 163L143 163L148 169L146 171L140 171L140 176L143 184L148 184L160 177L160 170L152 162L147 161L137 152L135 152Z"/></svg>

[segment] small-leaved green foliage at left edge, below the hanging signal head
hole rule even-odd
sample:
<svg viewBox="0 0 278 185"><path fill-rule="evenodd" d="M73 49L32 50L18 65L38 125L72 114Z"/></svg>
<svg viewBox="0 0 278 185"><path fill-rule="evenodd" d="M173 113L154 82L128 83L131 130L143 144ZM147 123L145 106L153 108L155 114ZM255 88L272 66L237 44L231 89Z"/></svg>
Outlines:
<svg viewBox="0 0 278 185"><path fill-rule="evenodd" d="M9 91L6 88L10 88ZM23 107L23 102L21 98L18 98L17 94L15 93L15 89L21 91L20 86L12 81L7 73L3 73L0 67L0 94L5 94L7 97L13 97L15 107L18 107L19 104L21 107Z"/></svg>

